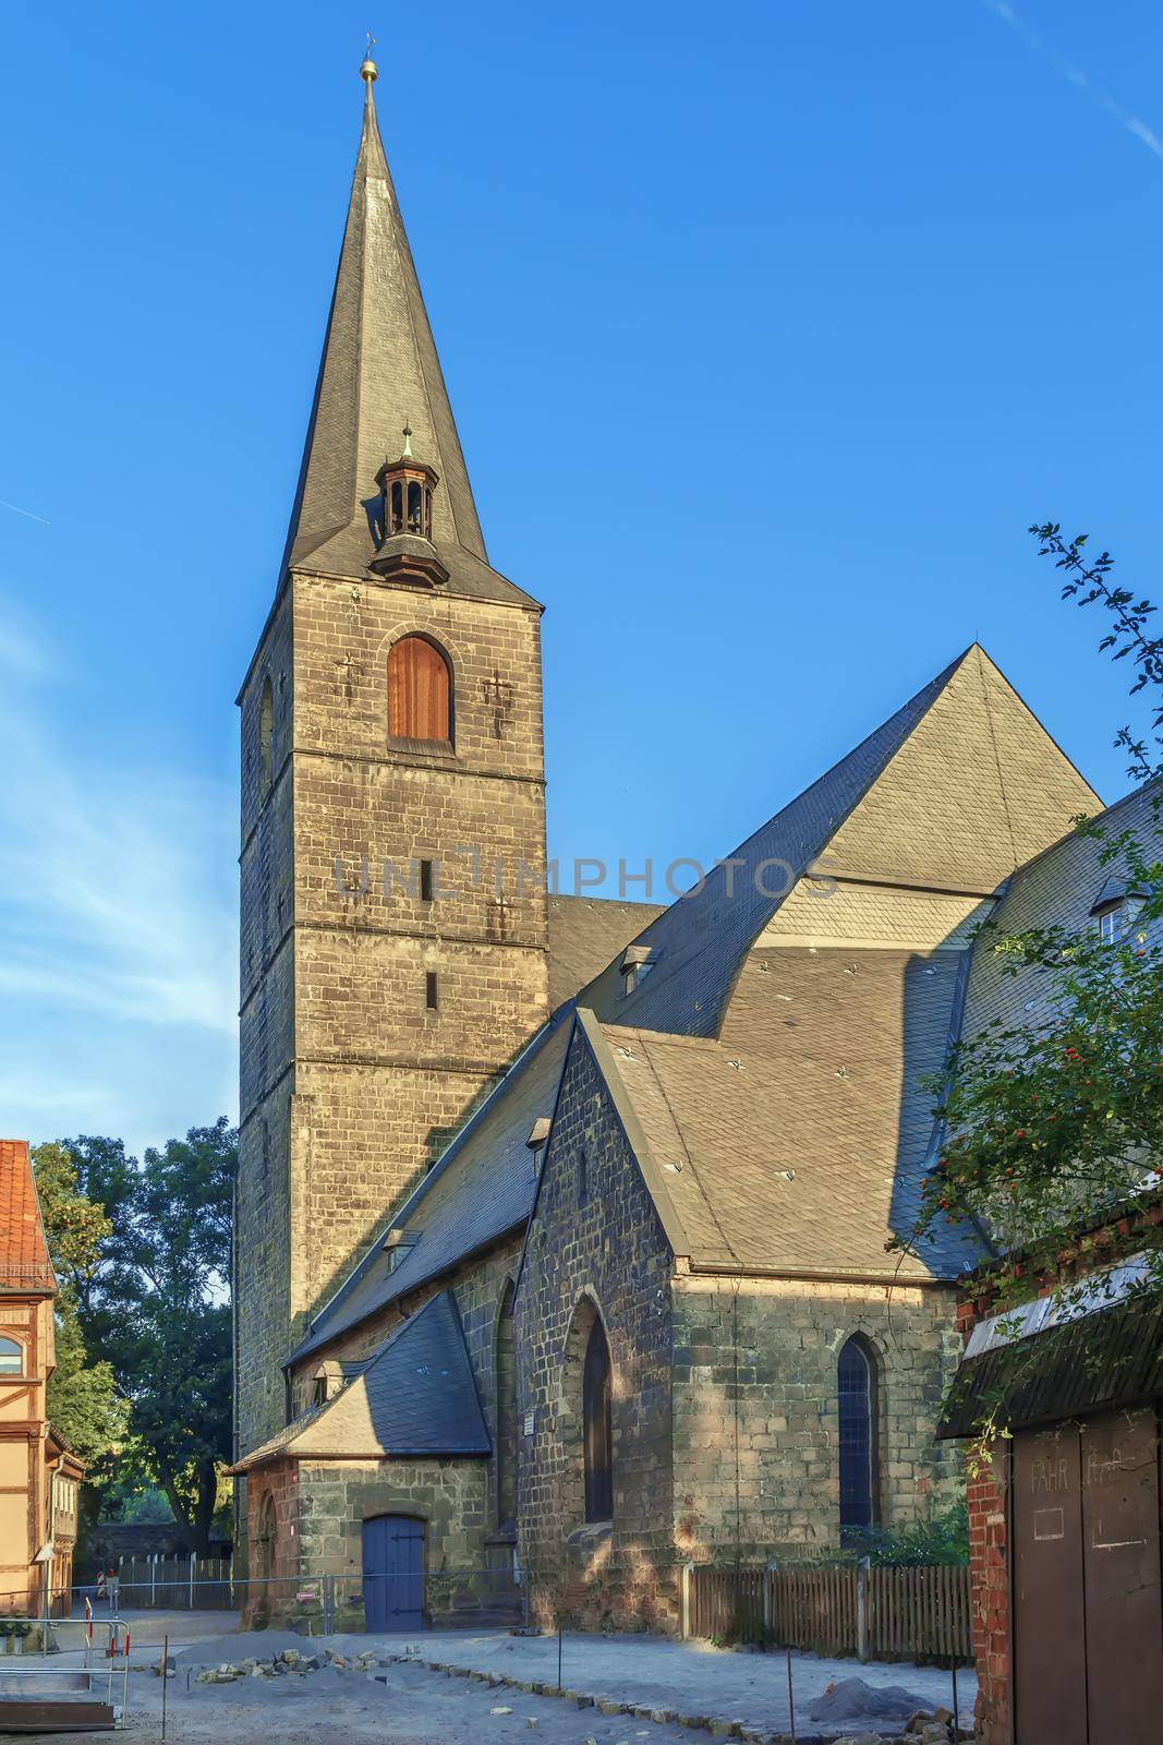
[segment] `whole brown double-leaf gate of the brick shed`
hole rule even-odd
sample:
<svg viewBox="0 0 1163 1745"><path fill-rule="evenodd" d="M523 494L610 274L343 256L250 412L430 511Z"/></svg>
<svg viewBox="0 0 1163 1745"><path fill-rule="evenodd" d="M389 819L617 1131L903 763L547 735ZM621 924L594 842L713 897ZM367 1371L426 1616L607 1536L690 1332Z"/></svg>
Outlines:
<svg viewBox="0 0 1163 1745"><path fill-rule="evenodd" d="M1158 1745L1154 1406L1015 1434L1013 1653L1017 1745Z"/></svg>

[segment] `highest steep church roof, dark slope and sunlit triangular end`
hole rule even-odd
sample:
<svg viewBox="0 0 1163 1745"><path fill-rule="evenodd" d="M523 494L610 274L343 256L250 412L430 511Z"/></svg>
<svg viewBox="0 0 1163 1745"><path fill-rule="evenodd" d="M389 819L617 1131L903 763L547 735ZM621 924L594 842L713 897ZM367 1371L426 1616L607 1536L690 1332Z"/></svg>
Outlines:
<svg viewBox="0 0 1163 1745"><path fill-rule="evenodd" d="M1048 787L1032 824L1015 822L999 733L1022 780L1037 771ZM654 968L629 998L610 965L588 1005L642 1030L715 1037L746 953L825 850L828 871L835 859L849 874L992 892L1093 804L1090 785L973 644L643 928L638 942L650 946ZM945 853L950 834L969 845L962 871Z"/></svg>

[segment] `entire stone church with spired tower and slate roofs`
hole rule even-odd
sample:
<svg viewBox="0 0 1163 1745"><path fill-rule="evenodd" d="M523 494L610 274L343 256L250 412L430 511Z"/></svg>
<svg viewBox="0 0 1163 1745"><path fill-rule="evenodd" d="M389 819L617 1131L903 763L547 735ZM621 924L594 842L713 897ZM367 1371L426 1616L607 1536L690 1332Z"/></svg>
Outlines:
<svg viewBox="0 0 1163 1745"><path fill-rule="evenodd" d="M670 907L547 890L542 606L490 564L361 72L239 696L248 1569L375 1628L460 1584L673 1630L689 1562L957 1495L980 1249L886 1242L975 928L1100 801L973 646Z"/></svg>

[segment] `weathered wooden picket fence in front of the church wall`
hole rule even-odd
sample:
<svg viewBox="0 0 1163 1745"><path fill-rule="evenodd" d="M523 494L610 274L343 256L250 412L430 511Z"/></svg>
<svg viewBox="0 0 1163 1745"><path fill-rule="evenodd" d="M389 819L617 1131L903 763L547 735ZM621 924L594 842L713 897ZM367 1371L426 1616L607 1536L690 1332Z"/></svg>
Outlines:
<svg viewBox="0 0 1163 1745"><path fill-rule="evenodd" d="M973 1659L969 1570L713 1569L685 1572L685 1633L736 1642L771 1640L861 1659Z"/></svg>

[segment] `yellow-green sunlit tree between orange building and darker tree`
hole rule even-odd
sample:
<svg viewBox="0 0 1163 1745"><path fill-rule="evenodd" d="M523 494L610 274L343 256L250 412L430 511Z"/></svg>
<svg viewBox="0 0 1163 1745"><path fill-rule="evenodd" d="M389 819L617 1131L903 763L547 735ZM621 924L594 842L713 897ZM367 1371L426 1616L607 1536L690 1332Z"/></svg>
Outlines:
<svg viewBox="0 0 1163 1745"><path fill-rule="evenodd" d="M129 1426L129 1406L117 1391L113 1368L91 1361L80 1321L80 1297L99 1265L110 1222L78 1188L77 1166L61 1145L33 1150L33 1176L58 1279L54 1302L56 1370L49 1377L47 1410L54 1429L89 1468L89 1483L108 1473Z"/></svg>

